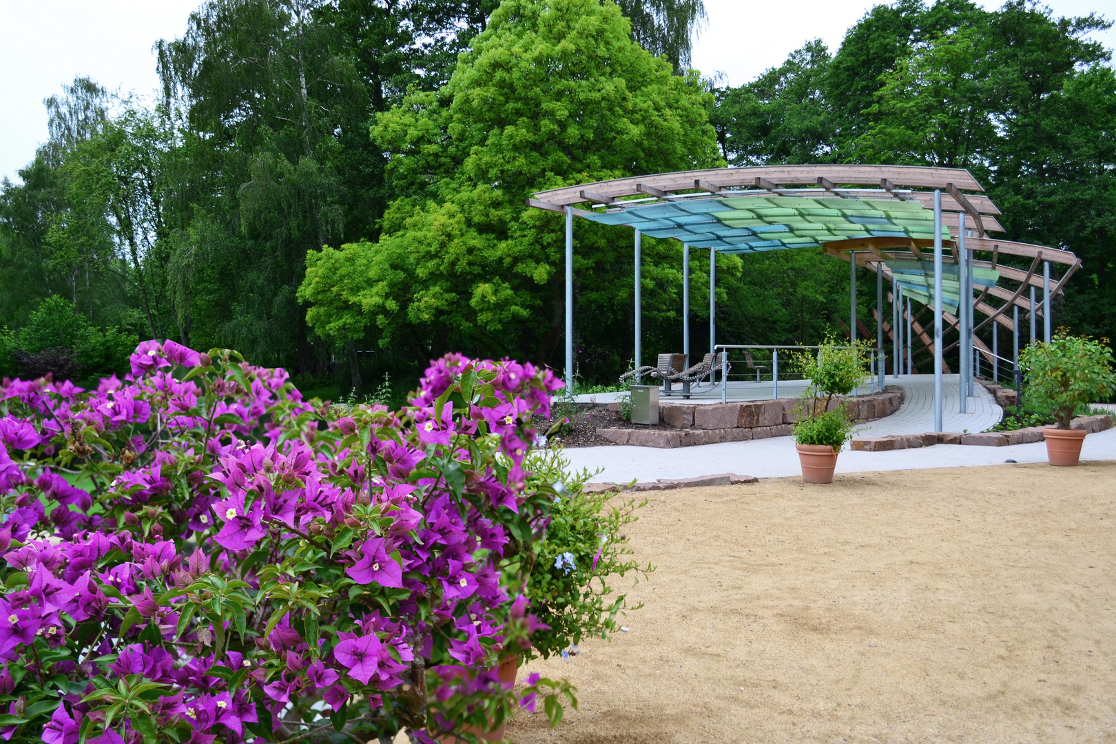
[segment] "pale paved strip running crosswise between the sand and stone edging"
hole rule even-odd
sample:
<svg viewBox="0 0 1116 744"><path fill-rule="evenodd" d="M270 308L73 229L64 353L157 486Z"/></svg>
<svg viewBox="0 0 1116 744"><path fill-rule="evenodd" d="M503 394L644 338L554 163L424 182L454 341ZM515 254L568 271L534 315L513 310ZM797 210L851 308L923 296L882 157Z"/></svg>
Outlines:
<svg viewBox="0 0 1116 744"><path fill-rule="evenodd" d="M655 481L740 473L757 477L800 475L795 441L789 436L753 442L728 442L699 447L655 450L653 447L578 447L567 450L575 468L603 472L590 479L597 483ZM1085 437L1083 460L1116 460L1116 428ZM1009 447L975 447L939 444L921 450L893 452L853 452L846 447L837 458L838 473L995 465L1007 460L1020 463L1047 461L1046 444L1017 444Z"/></svg>

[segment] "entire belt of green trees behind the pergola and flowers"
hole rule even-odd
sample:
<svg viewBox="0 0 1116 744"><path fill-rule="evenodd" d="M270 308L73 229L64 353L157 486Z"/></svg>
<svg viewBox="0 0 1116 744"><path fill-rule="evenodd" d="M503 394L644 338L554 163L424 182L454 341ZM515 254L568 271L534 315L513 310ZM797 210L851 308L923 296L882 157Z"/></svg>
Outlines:
<svg viewBox="0 0 1116 744"><path fill-rule="evenodd" d="M160 100L80 77L46 100L47 142L0 185L2 373L49 298L105 338L237 347L311 394L413 379L448 348L560 365L561 219L523 196L722 161L968 167L1006 238L1084 260L1056 325L1116 337L1116 77L1087 39L1108 21L899 0L725 88L687 71L703 19L700 0L204 2L157 45ZM610 381L632 235L576 240L579 373ZM645 354L675 351L681 247L643 250ZM718 257L716 276L724 342L812 344L847 316L847 269L820 251Z"/></svg>

